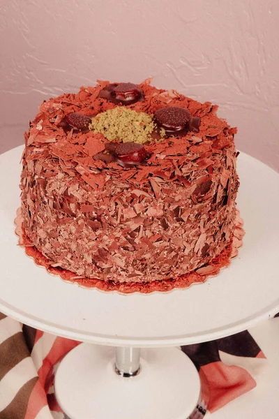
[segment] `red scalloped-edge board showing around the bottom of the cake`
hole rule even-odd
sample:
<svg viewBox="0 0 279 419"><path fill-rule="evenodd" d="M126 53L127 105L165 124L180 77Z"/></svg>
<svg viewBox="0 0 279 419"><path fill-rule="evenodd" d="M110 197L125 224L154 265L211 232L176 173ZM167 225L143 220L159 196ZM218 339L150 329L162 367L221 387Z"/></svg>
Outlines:
<svg viewBox="0 0 279 419"><path fill-rule="evenodd" d="M100 291L118 291L119 293L124 294L148 294L154 291L167 292L171 291L173 288L188 288L192 284L202 283L206 281L208 277L218 274L223 267L229 266L231 259L238 255L238 249L242 246L242 238L245 234L243 230L243 220L240 217L239 211L236 210L236 221L232 240L218 256L211 260L210 263L203 267L199 267L197 270L188 272L187 274L182 274L177 278L135 283L103 281L100 279L79 277L74 272L70 272L61 267L52 267L50 260L43 256L27 237L22 226L21 208L17 210L15 226L15 233L19 237L19 244L24 247L27 256L31 256L36 265L45 267L50 274L58 275L63 281L78 284L84 288L98 288Z"/></svg>

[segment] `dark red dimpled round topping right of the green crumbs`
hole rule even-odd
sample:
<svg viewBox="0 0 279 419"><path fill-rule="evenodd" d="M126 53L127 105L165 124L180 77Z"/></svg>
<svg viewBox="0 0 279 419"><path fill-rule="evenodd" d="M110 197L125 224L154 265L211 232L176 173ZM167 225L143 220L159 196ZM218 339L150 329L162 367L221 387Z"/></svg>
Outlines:
<svg viewBox="0 0 279 419"><path fill-rule="evenodd" d="M166 131L181 131L191 119L188 109L178 106L167 106L155 112L156 122Z"/></svg>

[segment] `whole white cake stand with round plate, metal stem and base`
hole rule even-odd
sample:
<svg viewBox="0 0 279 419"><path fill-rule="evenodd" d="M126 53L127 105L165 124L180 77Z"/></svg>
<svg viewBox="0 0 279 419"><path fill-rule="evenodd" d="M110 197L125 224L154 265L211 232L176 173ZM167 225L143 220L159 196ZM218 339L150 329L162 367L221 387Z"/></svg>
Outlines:
<svg viewBox="0 0 279 419"><path fill-rule="evenodd" d="M17 246L21 154L17 147L0 156L0 311L87 342L56 374L56 396L71 419L186 419L197 404L199 378L175 346L232 335L279 311L278 173L239 156L246 236L230 267L185 290L121 295L68 284Z"/></svg>

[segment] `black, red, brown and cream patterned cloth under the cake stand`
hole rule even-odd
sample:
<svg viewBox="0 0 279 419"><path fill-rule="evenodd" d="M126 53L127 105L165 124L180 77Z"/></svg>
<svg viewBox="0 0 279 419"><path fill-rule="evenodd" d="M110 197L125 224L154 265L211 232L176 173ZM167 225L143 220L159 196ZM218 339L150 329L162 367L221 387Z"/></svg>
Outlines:
<svg viewBox="0 0 279 419"><path fill-rule="evenodd" d="M0 313L0 419L66 419L54 397L54 374L63 356L78 344ZM247 331L181 350L204 383L199 418L206 408L216 411L254 388L266 362Z"/></svg>

